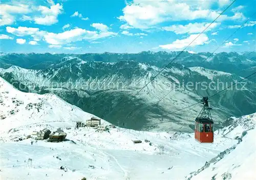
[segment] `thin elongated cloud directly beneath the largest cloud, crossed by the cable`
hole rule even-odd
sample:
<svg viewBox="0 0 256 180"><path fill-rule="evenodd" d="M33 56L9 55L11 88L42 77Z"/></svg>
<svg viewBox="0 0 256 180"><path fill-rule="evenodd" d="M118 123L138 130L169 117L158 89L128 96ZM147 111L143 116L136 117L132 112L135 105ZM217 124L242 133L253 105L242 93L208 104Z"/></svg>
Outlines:
<svg viewBox="0 0 256 180"><path fill-rule="evenodd" d="M185 33L195 34L195 33L201 33L202 31L204 31L208 27L208 25L210 25L210 23L195 22L195 23L189 23L186 25L172 25L169 27L163 27L162 29L165 31L172 31L176 34L185 34ZM220 23L216 23L216 22L212 23L209 26L209 28L205 30L205 32L211 31L211 29L216 28L218 25L220 25Z"/></svg>

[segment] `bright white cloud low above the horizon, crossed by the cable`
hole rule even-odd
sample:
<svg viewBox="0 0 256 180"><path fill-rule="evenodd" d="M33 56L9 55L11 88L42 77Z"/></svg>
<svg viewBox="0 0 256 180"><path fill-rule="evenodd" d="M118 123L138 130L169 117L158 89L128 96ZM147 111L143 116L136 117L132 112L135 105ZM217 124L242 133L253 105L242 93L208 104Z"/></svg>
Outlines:
<svg viewBox="0 0 256 180"><path fill-rule="evenodd" d="M169 49L169 50L181 50L188 46L199 34L192 34L186 39L177 39L171 44L159 45L162 49ZM195 47L198 45L203 45L208 42L208 37L205 34L201 34L193 43L190 44L190 47Z"/></svg>

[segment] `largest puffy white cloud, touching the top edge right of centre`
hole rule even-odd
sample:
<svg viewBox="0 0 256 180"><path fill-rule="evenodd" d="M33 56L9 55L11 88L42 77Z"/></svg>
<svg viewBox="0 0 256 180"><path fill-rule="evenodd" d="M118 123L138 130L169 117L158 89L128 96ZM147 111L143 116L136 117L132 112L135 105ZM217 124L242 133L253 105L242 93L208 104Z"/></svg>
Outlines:
<svg viewBox="0 0 256 180"><path fill-rule="evenodd" d="M230 1L220 0L219 4L225 6ZM118 19L126 22L134 28L149 29L157 24L166 21L181 21L207 19L214 20L220 15L220 10L211 10L207 4L215 4L216 1L144 1L134 0L127 3L122 9L123 15ZM204 5L203 5L204 4ZM207 6L206 6L207 5ZM222 8L223 9L223 8ZM221 9L221 10L222 10ZM233 16L221 15L218 21L223 20L243 20L242 13L236 12Z"/></svg>

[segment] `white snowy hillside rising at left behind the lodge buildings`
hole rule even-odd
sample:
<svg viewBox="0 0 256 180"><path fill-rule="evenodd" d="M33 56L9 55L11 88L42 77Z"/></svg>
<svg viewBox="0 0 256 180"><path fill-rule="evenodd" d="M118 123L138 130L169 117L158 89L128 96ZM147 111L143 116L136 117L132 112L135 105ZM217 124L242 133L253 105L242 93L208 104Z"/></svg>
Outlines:
<svg viewBox="0 0 256 180"><path fill-rule="evenodd" d="M73 126L94 115L81 111L56 95L23 93L0 78L0 133L31 124L57 123ZM103 120L104 121L104 120Z"/></svg>

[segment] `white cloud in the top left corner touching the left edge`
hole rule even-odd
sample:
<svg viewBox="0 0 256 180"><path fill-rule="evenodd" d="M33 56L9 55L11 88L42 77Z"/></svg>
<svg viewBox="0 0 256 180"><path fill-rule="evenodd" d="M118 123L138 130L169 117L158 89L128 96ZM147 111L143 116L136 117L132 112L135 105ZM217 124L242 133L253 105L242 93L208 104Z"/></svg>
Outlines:
<svg viewBox="0 0 256 180"><path fill-rule="evenodd" d="M0 26L14 23L16 15L18 14L27 14L31 12L29 6L23 4L17 6L1 4L0 10Z"/></svg>

